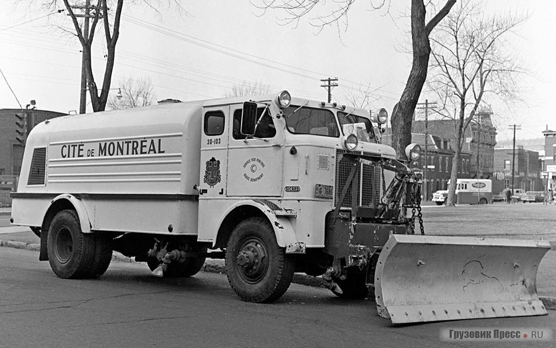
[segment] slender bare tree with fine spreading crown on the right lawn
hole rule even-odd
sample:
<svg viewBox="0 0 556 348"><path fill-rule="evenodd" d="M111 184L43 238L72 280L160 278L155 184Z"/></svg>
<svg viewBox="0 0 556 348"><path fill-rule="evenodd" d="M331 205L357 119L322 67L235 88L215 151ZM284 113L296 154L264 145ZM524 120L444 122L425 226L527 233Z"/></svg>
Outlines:
<svg viewBox="0 0 556 348"><path fill-rule="evenodd" d="M442 105L437 112L454 121L455 154L450 173L449 205L455 203L465 130L481 107L488 107L485 96L517 99L517 76L526 72L504 40L525 17L487 17L484 12L480 2L461 3L431 37L433 60L428 85Z"/></svg>

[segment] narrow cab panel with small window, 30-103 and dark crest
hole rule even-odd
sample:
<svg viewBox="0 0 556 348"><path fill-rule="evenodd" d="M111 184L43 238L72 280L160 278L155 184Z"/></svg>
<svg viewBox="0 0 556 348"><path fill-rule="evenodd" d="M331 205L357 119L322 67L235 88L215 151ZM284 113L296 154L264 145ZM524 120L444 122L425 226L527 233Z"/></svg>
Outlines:
<svg viewBox="0 0 556 348"><path fill-rule="evenodd" d="M203 107L200 201L203 198L224 198L226 196L229 133L227 125L229 125L229 106ZM200 204L202 205L201 202Z"/></svg>

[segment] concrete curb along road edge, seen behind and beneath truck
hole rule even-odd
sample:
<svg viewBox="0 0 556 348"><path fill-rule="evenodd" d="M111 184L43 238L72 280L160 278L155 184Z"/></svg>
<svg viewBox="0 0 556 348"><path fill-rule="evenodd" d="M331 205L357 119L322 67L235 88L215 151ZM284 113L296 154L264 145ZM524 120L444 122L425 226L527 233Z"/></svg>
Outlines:
<svg viewBox="0 0 556 348"><path fill-rule="evenodd" d="M40 251L41 249L40 244L3 241L2 239L0 239L0 247L27 249L31 251ZM118 252L114 252L112 254L112 259L120 262L136 262L134 257L123 256L123 254ZM208 259L203 268L201 268L201 272L220 273L221 275L225 275L226 267L222 264L222 261ZM302 273L295 273L292 283L313 287L326 287L326 283L322 280L322 278L307 276ZM556 297L539 296L539 299L543 302L543 305L547 310L556 310Z"/></svg>

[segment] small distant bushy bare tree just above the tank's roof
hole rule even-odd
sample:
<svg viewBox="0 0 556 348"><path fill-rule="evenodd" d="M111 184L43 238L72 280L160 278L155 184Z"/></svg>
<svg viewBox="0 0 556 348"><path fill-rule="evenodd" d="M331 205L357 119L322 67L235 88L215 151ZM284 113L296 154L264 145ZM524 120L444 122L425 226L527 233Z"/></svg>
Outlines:
<svg viewBox="0 0 556 348"><path fill-rule="evenodd" d="M121 98L118 99L118 95L111 94L107 102L108 107L113 110L147 106L155 102L156 96L151 79L148 77L141 79L128 77L120 81L118 89L118 94L121 93Z"/></svg>

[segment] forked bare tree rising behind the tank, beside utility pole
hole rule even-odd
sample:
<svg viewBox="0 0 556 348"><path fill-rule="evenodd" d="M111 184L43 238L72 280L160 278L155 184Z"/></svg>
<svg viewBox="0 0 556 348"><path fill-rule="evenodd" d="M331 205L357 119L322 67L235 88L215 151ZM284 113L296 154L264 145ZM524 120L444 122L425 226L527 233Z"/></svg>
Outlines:
<svg viewBox="0 0 556 348"><path fill-rule="evenodd" d="M18 3L28 3L31 6L37 2L35 0L19 0ZM75 2L70 3L69 0L47 0L41 3L41 6L48 10L57 9L59 3L63 3L66 8L66 13L71 17L73 29L67 30L59 27L61 30L70 32L75 35L81 43L83 50L83 65L87 75L87 89L91 96L91 104L93 111L105 110L108 101L108 92L110 92L110 85L112 80L112 71L114 68L114 60L116 57L116 43L120 37L120 23L123 10L123 0L91 0L89 6ZM147 0L126 0L129 4L143 4L155 12L158 12L157 6L161 1L147 1ZM180 0L170 0L169 3L175 4L176 7L182 9ZM108 12L110 11L110 12ZM86 19L81 19L85 18ZM85 22L90 22L87 30ZM102 26L103 35L106 39L106 65L102 77L102 85L99 87L93 74L92 60L91 60L91 46L95 34L97 33L97 25Z"/></svg>

